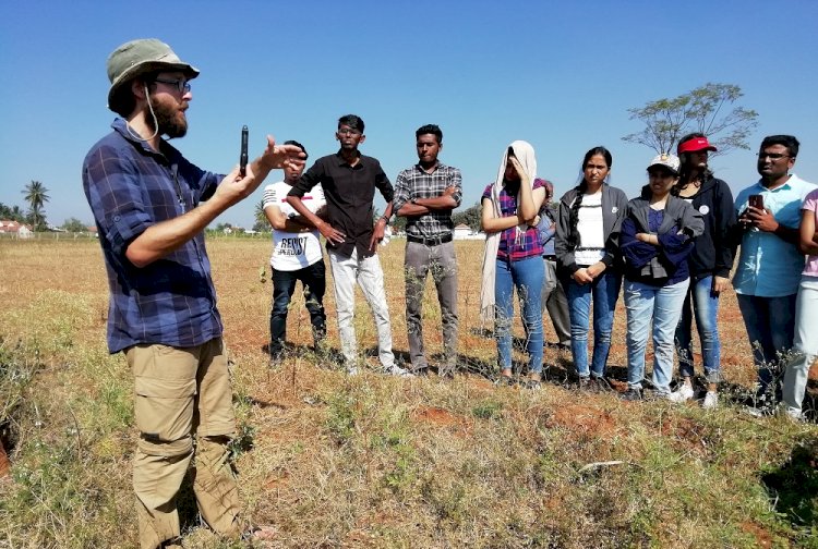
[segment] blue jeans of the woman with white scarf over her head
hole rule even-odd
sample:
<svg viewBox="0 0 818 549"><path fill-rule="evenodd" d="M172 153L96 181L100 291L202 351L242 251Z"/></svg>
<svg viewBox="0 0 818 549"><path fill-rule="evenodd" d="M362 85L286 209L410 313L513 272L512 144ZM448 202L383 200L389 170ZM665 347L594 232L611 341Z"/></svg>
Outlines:
<svg viewBox="0 0 818 549"><path fill-rule="evenodd" d="M526 330L528 370L542 371L542 307L540 295L545 278L542 257L518 261L497 259L494 281L494 337L497 340L497 361L502 369L512 368L512 320L514 319L514 289L522 312Z"/></svg>

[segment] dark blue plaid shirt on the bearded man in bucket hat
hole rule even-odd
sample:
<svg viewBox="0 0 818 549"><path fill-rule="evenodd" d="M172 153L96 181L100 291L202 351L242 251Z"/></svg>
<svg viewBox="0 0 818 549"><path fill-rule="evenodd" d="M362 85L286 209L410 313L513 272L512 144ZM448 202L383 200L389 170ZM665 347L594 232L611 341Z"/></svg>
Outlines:
<svg viewBox="0 0 818 549"><path fill-rule="evenodd" d="M209 198L222 176L200 170L167 142L160 152L135 139L117 119L83 163L108 272L108 350L137 343L187 347L221 335L204 232L139 268L125 251L145 229Z"/></svg>

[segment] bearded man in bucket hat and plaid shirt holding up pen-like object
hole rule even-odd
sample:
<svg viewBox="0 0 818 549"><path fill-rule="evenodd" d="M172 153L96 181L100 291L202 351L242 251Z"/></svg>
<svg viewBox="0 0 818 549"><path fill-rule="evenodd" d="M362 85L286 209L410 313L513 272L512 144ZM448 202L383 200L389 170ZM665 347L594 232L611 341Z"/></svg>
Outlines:
<svg viewBox="0 0 818 549"><path fill-rule="evenodd" d="M194 434L201 515L222 535L243 527L227 459L232 392L203 231L270 170L303 166L300 148L272 137L245 175L238 167L227 175L207 172L182 157L163 135L187 133L196 76L159 40L117 48L108 58L108 107L121 118L92 147L82 172L108 272L108 349L122 351L134 375L133 486L143 548L181 547L176 498Z"/></svg>

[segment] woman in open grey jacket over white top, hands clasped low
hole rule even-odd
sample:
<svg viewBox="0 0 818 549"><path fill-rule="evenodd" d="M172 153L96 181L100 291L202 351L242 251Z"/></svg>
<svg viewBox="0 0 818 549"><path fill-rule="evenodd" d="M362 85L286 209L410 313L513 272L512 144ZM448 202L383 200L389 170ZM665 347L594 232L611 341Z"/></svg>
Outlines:
<svg viewBox="0 0 818 549"><path fill-rule="evenodd" d="M570 352L580 390L599 391L611 350L616 300L622 285L619 225L627 196L608 184L613 158L605 147L585 155L579 185L560 199L555 252L568 296ZM593 305L593 357L588 366L588 322Z"/></svg>

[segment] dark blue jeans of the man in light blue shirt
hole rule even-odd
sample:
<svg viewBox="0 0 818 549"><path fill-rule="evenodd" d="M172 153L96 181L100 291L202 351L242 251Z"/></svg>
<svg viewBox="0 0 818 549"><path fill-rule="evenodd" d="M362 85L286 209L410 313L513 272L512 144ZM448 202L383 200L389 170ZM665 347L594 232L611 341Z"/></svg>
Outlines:
<svg viewBox="0 0 818 549"><path fill-rule="evenodd" d="M753 345L753 361L758 368L759 392L766 391L772 382L770 367L779 362L779 353L793 346L797 295L758 297L737 294L744 327Z"/></svg>

